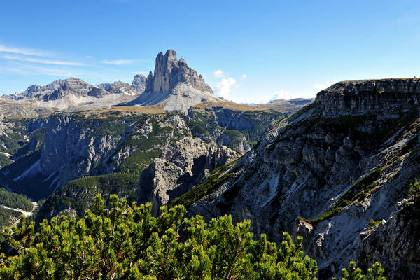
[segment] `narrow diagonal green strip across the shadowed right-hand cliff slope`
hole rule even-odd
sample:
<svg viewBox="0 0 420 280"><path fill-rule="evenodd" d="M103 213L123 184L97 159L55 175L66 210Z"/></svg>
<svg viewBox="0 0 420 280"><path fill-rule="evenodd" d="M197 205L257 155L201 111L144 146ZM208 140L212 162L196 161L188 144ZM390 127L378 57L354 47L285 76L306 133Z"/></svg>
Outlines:
<svg viewBox="0 0 420 280"><path fill-rule="evenodd" d="M339 197L339 200L332 204L325 213L315 219L303 219L307 223L318 223L323 221L331 216L334 216L341 212L344 208L349 206L351 203L356 202L357 200L363 200L367 194L376 186L374 183L377 180L382 172L381 168L374 169L369 174L365 175L362 179L358 180L356 183L349 188L349 190Z"/></svg>

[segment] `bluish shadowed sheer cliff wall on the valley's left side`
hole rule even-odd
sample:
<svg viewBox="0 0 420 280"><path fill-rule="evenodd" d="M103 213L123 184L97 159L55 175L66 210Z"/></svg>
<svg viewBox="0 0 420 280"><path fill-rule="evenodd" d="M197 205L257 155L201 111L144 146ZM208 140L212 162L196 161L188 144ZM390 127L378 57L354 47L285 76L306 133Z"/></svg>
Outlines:
<svg viewBox="0 0 420 280"><path fill-rule="evenodd" d="M101 120L84 123L75 120L71 114L48 119L40 167L44 176L55 174L57 180L50 186L50 191L78 176L90 174L94 167L114 153L124 134L100 133L102 123Z"/></svg>

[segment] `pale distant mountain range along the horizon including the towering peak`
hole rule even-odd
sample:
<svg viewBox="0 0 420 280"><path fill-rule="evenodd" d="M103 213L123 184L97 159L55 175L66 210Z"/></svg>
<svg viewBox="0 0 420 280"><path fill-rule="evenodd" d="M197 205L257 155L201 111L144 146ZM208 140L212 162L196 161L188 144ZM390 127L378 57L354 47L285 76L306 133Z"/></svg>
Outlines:
<svg viewBox="0 0 420 280"><path fill-rule="evenodd" d="M268 107L294 111L311 102L311 99L305 100L272 102ZM25 92L0 97L0 106L5 107L3 111L13 113L10 101L13 101L15 113L19 115L20 111L25 111L25 116L58 110L109 109L111 106L156 106L164 111L187 113L190 106L202 102L225 102L214 95L202 76L188 67L184 59L176 57L174 50L167 50L165 55L160 52L154 73L150 72L147 78L134 76L131 85L120 81L91 85L78 78L67 78L45 86L31 85Z"/></svg>

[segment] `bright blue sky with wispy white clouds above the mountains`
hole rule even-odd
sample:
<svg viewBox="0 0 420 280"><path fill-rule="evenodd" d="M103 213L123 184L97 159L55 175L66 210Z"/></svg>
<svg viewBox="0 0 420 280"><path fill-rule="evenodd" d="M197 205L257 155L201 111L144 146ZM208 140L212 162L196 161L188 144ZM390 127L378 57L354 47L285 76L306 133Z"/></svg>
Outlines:
<svg viewBox="0 0 420 280"><path fill-rule="evenodd" d="M420 1L0 1L0 95L76 77L131 83L158 52L235 102L420 76Z"/></svg>

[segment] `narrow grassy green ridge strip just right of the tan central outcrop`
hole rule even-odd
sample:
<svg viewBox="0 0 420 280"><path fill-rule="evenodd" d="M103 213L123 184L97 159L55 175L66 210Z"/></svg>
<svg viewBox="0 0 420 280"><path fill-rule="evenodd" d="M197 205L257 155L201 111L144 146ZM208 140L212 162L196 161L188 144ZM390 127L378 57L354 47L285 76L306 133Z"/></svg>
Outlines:
<svg viewBox="0 0 420 280"><path fill-rule="evenodd" d="M225 172L228 171L228 169L230 169L230 167L232 167L236 162L237 160L214 169L206 178L203 179L202 183L197 186L193 186L191 190L180 197L176 197L172 200L172 202L170 202L169 206L173 207L174 205L180 204L187 208L190 207L194 202L200 200L204 197L204 195L211 193L212 190L221 186L222 183L228 180L233 174Z"/></svg>

